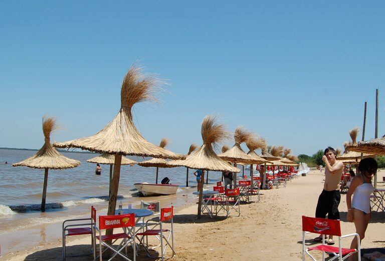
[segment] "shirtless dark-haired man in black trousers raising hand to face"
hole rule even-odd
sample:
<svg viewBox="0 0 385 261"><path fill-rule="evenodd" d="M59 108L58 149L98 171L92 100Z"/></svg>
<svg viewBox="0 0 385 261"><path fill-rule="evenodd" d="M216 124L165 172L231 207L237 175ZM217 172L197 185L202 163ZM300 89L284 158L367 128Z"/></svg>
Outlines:
<svg viewBox="0 0 385 261"><path fill-rule="evenodd" d="M338 205L341 200L339 182L342 176L343 163L336 160L337 153L332 147L327 147L323 153L322 161L325 162L325 183L318 197L315 217L339 219ZM322 166L322 165L321 165ZM314 241L322 241L322 235L314 238ZM327 244L334 244L333 236L329 235Z"/></svg>

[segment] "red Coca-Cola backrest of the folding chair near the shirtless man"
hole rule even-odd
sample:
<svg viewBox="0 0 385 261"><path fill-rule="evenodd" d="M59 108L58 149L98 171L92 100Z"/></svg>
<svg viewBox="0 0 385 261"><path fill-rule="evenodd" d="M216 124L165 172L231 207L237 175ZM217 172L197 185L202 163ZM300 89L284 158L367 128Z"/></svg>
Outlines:
<svg viewBox="0 0 385 261"><path fill-rule="evenodd" d="M302 216L302 231L341 236L339 220Z"/></svg>

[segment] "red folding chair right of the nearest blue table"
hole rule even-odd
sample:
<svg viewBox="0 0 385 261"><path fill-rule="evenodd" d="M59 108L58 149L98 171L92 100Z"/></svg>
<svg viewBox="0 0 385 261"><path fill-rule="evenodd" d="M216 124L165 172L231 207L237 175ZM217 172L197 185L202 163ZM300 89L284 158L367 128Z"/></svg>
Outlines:
<svg viewBox="0 0 385 261"><path fill-rule="evenodd" d="M172 255L169 257L173 257L175 255L174 251L174 227L173 227L173 216L174 216L174 207L167 207L160 209L160 218L159 218L159 228L160 229L147 229L142 233L137 233L136 238L139 240L139 246L142 245L144 249L147 252L148 257L157 258L157 256L152 256L148 245L144 244L144 237L145 236L158 236L160 237L160 252L161 252L161 260L164 260L164 253L166 251L167 246L170 247L172 251ZM171 220L171 229L163 229L163 222ZM166 233L168 232L168 236L166 236ZM140 237L139 237L140 236ZM169 242L171 238L171 243ZM165 245L163 243L163 240L165 240Z"/></svg>

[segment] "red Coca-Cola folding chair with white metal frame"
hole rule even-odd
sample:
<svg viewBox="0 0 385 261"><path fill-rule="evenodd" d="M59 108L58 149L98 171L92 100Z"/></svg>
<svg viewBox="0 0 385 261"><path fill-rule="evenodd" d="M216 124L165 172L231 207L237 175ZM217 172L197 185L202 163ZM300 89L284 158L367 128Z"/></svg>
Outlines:
<svg viewBox="0 0 385 261"><path fill-rule="evenodd" d="M322 234L322 244L306 248L305 235L308 233ZM325 244L325 235L338 236L338 247ZM341 239L345 237L356 236L358 242L358 249L342 248ZM309 255L314 261L316 260L309 251L322 251L322 260L325 259L325 252L331 252L334 256L329 259L344 260L350 255L358 252L358 261L361 260L361 251L359 245L359 235L357 233L341 235L341 226L339 220L307 217L302 216L302 260L305 260L305 254Z"/></svg>

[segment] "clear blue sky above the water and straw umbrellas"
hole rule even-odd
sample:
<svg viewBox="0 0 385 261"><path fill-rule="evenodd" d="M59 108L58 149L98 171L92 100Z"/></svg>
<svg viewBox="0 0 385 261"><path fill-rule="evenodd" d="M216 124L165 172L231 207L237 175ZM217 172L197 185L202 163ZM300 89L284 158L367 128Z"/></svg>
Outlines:
<svg viewBox="0 0 385 261"><path fill-rule="evenodd" d="M384 134L385 2L8 1L0 3L0 147L40 148L90 136L120 108L139 60L168 79L160 106L135 106L142 135L185 153L218 113L294 154L342 147L348 131ZM361 133L358 134L359 137ZM234 141L229 141L232 145Z"/></svg>

